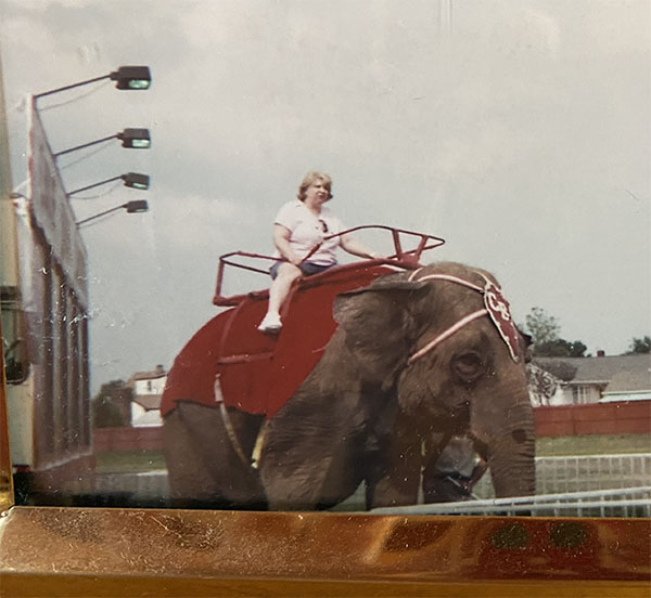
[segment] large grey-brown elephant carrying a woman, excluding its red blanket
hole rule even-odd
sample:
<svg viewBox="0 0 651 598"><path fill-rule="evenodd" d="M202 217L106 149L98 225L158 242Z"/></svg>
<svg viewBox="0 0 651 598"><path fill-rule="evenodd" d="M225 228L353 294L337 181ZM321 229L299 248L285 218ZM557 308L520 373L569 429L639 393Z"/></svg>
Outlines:
<svg viewBox="0 0 651 598"><path fill-rule="evenodd" d="M336 297L333 314L320 360L266 422L191 403L165 417L177 497L315 510L363 482L367 508L416 504L452 434L473 440L496 496L534 494L526 347L493 275L456 262L396 272Z"/></svg>

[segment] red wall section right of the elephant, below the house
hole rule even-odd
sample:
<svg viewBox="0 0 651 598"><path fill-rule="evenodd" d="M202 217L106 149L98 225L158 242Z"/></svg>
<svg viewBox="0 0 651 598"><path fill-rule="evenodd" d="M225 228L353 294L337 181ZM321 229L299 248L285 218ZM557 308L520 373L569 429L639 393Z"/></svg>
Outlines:
<svg viewBox="0 0 651 598"><path fill-rule="evenodd" d="M651 401L536 407L534 419L540 437L651 433Z"/></svg>

